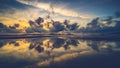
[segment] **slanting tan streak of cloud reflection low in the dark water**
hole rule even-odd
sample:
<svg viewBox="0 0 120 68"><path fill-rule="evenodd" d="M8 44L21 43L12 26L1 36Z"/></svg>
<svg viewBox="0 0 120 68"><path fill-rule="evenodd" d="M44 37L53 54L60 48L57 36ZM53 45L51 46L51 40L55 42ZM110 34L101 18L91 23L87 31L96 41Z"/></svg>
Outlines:
<svg viewBox="0 0 120 68"><path fill-rule="evenodd" d="M69 53L69 54L63 54L61 56L57 56L57 57L54 57L54 58L49 58L43 62L38 62L36 65L38 67L40 66L49 66L51 64L51 62L54 62L54 63L61 63L61 62L65 62L67 60L72 60L76 57L80 57L80 56L84 56L84 55L88 55L88 54L91 54L90 51L84 51L84 52L73 52L73 53Z"/></svg>

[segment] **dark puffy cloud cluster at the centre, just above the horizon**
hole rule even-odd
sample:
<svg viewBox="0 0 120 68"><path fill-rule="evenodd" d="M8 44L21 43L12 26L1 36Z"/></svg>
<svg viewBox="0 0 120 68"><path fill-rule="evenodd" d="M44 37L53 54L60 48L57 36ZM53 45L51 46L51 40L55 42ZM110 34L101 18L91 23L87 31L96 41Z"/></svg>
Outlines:
<svg viewBox="0 0 120 68"><path fill-rule="evenodd" d="M60 21L54 21L51 20L50 22L47 22L47 26L48 28L50 27L50 25L52 25L52 28L49 28L49 31L47 32L60 32L60 31L75 31L78 30L79 25L78 23L73 23L70 24L69 20L65 20L64 22L60 22ZM43 29L43 25L44 23L44 19L39 17L38 19L36 19L35 21L29 21L30 27L26 29L26 32L45 32L46 30Z"/></svg>

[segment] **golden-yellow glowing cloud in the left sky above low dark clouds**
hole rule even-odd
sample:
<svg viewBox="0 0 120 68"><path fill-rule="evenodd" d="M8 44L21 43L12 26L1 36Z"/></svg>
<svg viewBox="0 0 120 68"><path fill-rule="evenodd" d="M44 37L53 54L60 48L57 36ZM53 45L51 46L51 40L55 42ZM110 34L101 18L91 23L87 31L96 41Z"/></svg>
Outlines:
<svg viewBox="0 0 120 68"><path fill-rule="evenodd" d="M29 20L35 20L40 16L44 17L45 14L41 14L42 12L44 11L35 8L28 8L26 10L13 9L4 13L0 13L0 22L7 26L18 23L20 24L20 29L23 29L24 27L29 27Z"/></svg>

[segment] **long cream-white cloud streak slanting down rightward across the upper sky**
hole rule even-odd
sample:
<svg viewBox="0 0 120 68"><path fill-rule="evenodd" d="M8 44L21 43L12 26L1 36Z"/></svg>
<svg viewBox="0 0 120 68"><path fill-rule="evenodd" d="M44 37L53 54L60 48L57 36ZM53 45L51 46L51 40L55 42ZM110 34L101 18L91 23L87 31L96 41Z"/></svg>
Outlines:
<svg viewBox="0 0 120 68"><path fill-rule="evenodd" d="M51 11L50 5L53 6L55 14L61 16L77 17L77 18L91 18L92 16L87 14L78 13L73 8L69 8L66 3L52 3L52 2L41 2L37 0L17 0L18 2L26 5L30 5L45 11Z"/></svg>

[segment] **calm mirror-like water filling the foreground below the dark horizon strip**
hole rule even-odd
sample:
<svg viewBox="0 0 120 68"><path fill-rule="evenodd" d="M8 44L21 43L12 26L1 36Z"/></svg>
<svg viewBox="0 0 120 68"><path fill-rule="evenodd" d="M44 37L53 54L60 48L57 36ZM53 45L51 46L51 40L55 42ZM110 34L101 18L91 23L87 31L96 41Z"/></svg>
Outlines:
<svg viewBox="0 0 120 68"><path fill-rule="evenodd" d="M120 68L120 41L0 39L0 68Z"/></svg>

